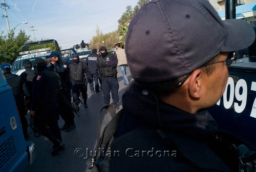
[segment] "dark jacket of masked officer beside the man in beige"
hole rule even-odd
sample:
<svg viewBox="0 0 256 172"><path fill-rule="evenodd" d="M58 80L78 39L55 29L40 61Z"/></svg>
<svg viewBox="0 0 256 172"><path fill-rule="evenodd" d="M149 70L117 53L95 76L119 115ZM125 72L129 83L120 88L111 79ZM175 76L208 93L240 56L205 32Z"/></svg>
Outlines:
<svg viewBox="0 0 256 172"><path fill-rule="evenodd" d="M117 77L117 57L108 53L105 57L100 55L97 59L97 67L101 77Z"/></svg>

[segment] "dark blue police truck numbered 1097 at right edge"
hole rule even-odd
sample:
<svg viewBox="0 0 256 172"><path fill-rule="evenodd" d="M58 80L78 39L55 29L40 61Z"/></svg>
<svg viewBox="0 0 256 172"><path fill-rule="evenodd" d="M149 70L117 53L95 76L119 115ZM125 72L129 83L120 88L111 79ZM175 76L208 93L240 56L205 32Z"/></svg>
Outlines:
<svg viewBox="0 0 256 172"><path fill-rule="evenodd" d="M231 1L226 1L226 7L230 4ZM235 18L236 12L232 9L226 11L232 15L230 18ZM253 29L256 32L256 28ZM219 126L217 136L236 146L245 144L256 151L256 40L248 48L248 56L234 60L228 71L223 96L209 108Z"/></svg>

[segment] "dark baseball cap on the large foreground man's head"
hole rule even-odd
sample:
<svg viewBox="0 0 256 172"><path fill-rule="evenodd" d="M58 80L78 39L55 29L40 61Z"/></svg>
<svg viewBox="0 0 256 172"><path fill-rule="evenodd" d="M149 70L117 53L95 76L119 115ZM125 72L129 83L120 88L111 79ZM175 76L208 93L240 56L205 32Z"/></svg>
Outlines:
<svg viewBox="0 0 256 172"><path fill-rule="evenodd" d="M188 74L221 52L242 50L254 40L250 24L222 20L208 1L152 0L132 18L125 53L135 80L160 82Z"/></svg>

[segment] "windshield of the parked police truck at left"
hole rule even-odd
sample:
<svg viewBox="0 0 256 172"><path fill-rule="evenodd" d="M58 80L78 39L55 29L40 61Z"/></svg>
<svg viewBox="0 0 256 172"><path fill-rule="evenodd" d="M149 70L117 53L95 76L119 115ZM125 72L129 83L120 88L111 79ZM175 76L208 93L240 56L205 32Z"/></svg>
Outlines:
<svg viewBox="0 0 256 172"><path fill-rule="evenodd" d="M29 54L29 55L24 55L24 56L20 56L20 57L17 57L12 65L12 68L11 68L11 71L18 71L18 70L22 70L22 69L25 69L24 67L24 61L26 60L30 60L31 63L32 63L32 67L34 65L34 61L35 59L37 59L38 57L41 57L42 59L45 59L47 56L47 54L40 54L40 55L32 55L32 54Z"/></svg>

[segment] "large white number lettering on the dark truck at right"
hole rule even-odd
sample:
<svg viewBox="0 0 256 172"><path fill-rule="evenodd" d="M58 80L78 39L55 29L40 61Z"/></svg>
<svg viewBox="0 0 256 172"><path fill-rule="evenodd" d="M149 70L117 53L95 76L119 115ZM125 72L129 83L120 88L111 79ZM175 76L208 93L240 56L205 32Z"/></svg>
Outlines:
<svg viewBox="0 0 256 172"><path fill-rule="evenodd" d="M247 83L244 79L228 77L225 92L217 102L217 105L222 105L225 109L233 108L234 112L240 114L245 109L250 110L250 117L256 118L256 82ZM253 104L248 103L248 95L253 98ZM250 107L249 107L250 106Z"/></svg>

